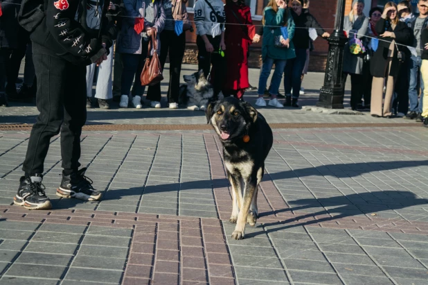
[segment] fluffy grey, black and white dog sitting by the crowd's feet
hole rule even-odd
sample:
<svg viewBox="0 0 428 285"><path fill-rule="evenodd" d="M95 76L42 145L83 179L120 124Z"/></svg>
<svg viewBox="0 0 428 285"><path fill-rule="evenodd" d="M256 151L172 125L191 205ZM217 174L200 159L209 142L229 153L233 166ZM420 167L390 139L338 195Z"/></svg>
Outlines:
<svg viewBox="0 0 428 285"><path fill-rule="evenodd" d="M187 105L189 110L206 110L209 102L213 101L214 90L211 83L206 80L204 71L184 75L187 85L181 85L179 90L179 104ZM223 97L222 95L220 95ZM219 96L219 97L220 97Z"/></svg>

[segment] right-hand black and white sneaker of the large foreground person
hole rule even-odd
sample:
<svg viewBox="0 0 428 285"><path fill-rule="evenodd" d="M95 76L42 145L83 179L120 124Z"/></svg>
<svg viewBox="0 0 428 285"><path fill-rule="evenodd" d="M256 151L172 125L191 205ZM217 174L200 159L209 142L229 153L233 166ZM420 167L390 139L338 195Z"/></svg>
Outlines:
<svg viewBox="0 0 428 285"><path fill-rule="evenodd" d="M93 181L84 176L86 167L71 175L62 174L60 188L57 189L57 196L62 198L78 198L80 200L96 201L101 199L101 192L93 189Z"/></svg>

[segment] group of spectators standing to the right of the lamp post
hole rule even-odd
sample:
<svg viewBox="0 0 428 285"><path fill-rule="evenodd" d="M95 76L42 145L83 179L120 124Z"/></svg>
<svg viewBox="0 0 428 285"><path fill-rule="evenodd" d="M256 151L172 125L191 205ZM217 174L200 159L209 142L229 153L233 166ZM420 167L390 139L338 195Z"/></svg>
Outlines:
<svg viewBox="0 0 428 285"><path fill-rule="evenodd" d="M388 2L366 17L364 0L353 1L344 31L366 50L355 54L351 42L345 46L343 70L345 78L350 75L353 110L370 110L377 118L416 119L428 127L428 98L423 107L428 96L428 1L419 0L417 7L418 14L410 1Z"/></svg>

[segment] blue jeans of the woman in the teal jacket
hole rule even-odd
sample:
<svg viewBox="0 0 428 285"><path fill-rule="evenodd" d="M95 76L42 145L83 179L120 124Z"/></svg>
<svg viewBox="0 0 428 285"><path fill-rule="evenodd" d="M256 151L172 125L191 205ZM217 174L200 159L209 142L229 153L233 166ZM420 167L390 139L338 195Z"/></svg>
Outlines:
<svg viewBox="0 0 428 285"><path fill-rule="evenodd" d="M274 60L273 58L267 57L263 62L262 73L258 80L258 94L265 94L267 78L271 74L272 67L275 64L274 75L271 79L271 87L269 88L269 93L271 95L278 95L279 85L281 84L281 79L283 78L284 68L287 60Z"/></svg>

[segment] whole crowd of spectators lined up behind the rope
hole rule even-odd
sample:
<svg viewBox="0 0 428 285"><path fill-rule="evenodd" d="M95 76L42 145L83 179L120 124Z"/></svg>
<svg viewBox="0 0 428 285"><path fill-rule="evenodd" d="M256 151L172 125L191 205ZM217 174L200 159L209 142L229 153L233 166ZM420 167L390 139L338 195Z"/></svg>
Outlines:
<svg viewBox="0 0 428 285"><path fill-rule="evenodd" d="M17 21L20 2L2 2L0 96L8 101L31 102L36 94L37 80L30 33ZM103 14L102 2L82 1L85 7L82 4L77 10L76 21L91 33L107 29L112 42L107 60L87 65L88 108L99 105L108 109L111 98L123 108L143 106L145 86L141 85L140 76L145 59L154 52L148 51L152 33L159 46L157 53L162 69L169 55L170 77L166 80L169 107L179 107L186 31L193 31L186 2L112 0ZM243 99L247 89L256 89L249 84L247 59L249 46L261 39L262 66L256 105L298 107L312 42L317 36L330 37L310 14L309 4L309 0L270 0L263 11L262 26L256 29L250 8L242 0L226 0L225 5L222 0L196 1L193 12L198 69L204 71L206 78L209 76L214 98L222 92L224 96ZM404 116L422 121L428 115L422 115L424 84L421 76L422 51L425 50L422 31L428 23L428 0L419 1L418 15L412 12L408 0L398 5L386 3L384 9L372 8L368 17L363 10L364 0L354 0L352 10L344 19L344 31L350 40L345 46L343 71L344 80L349 75L351 81L351 108L370 110L376 117ZM101 27L102 17L106 17L109 24ZM138 19L143 19L140 29ZM359 40L365 52L353 52L355 40ZM15 83L24 56L24 83L18 91ZM267 87L272 67L274 71ZM285 96L278 92L282 78ZM96 83L94 97L93 83ZM269 97L268 103L265 96ZM278 99L284 97L281 103ZM161 107L161 83L148 87L146 99L150 107Z"/></svg>

